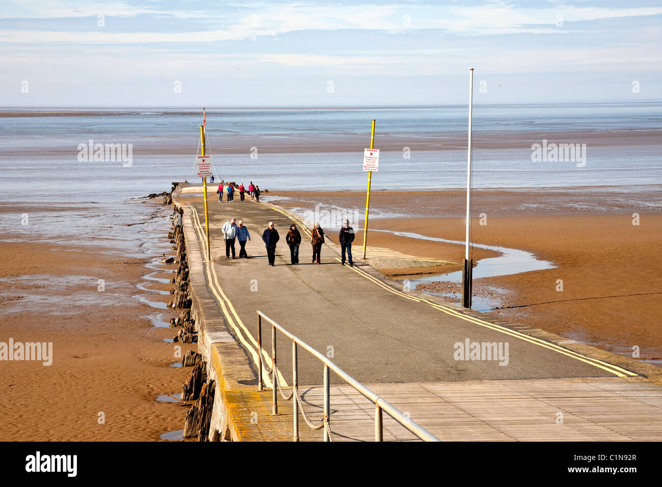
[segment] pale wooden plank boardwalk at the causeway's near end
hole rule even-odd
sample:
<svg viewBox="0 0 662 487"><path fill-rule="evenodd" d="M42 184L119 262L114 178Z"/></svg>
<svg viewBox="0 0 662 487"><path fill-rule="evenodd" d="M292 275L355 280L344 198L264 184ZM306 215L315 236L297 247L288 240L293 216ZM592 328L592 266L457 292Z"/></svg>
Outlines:
<svg viewBox="0 0 662 487"><path fill-rule="evenodd" d="M661 441L662 386L619 379L367 384L442 441ZM311 421L322 388L301 387ZM332 386L335 441L373 441L375 407L351 386ZM304 394L305 393L305 394ZM283 401L279 401L283 404ZM291 418L291 407L282 409ZM288 421L290 421L288 419ZM301 439L321 441L299 419ZM384 441L419 441L384 413Z"/></svg>

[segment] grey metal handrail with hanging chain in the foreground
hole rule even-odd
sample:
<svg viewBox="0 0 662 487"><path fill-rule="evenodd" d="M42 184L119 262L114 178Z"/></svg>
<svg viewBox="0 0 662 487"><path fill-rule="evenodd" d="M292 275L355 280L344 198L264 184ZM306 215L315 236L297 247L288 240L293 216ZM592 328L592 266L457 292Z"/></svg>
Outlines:
<svg viewBox="0 0 662 487"><path fill-rule="evenodd" d="M272 404L272 409L271 412L272 414L276 415L278 414L278 398L277 398L277 378L276 374L278 373L277 371L277 366L276 366L276 329L278 329L283 335L288 337L289 339L292 340L292 388L293 388L293 394L292 394L292 401L293 401L293 441L299 441L299 404L297 403L297 387L299 386L299 360L297 357L297 345L308 351L312 356L318 358L323 364L324 364L324 422L326 423L326 426L329 426L329 419L330 419L330 381L329 381L329 370L333 370L336 375L338 375L342 380L344 380L347 384L352 386L357 392L360 392L365 398L370 400L373 404L375 404L375 441L383 441L383 421L382 421L382 411L386 411L389 416L391 416L395 421L400 423L402 426L404 426L406 429L414 433L418 438L422 439L423 441L440 441L437 437L432 435L432 433L426 431L426 429L420 427L414 421L411 421L408 417L406 417L401 411L399 411L395 406L390 404L389 402L385 401L383 398L381 398L378 394L375 394L375 392L369 390L367 387L363 386L360 382L349 376L342 368L338 367L334 362L331 360L328 360L328 358L324 355L322 355L320 352L316 351L310 345L305 343L303 340L299 339L298 337L295 337L292 333L287 331L285 328L281 327L278 323L273 321L273 319L269 318L267 315L262 313L259 309L257 310L258 313L258 348L261 351L262 347L262 318L267 320L269 323L271 323L271 360L272 360L272 366L271 366L271 374L273 375L273 404ZM262 357L260 355L259 357L260 363L258 364L258 390L263 390L262 388ZM303 405L301 407L301 413L305 414L305 411L303 411ZM324 441L329 441L329 434L327 432L330 431L330 427L324 427Z"/></svg>

